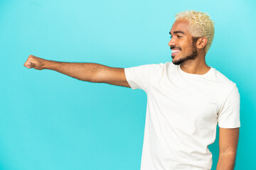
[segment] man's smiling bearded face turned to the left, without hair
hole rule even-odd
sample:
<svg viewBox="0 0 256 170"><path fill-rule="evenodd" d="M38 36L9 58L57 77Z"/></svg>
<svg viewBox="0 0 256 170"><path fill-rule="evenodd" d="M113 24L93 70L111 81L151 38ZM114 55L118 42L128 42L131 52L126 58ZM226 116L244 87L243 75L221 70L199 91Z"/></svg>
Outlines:
<svg viewBox="0 0 256 170"><path fill-rule="evenodd" d="M186 62L187 60L194 60L198 52L196 50L196 40L188 31L189 23L187 20L177 20L171 27L171 40L169 47L171 47L172 62L176 65Z"/></svg>

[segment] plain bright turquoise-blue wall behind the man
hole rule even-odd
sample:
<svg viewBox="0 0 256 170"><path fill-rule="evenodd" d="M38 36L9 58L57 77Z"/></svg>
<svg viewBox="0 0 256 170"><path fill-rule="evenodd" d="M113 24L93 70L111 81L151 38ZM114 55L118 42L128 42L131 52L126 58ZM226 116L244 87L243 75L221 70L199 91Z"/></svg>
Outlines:
<svg viewBox="0 0 256 170"><path fill-rule="evenodd" d="M134 67L171 61L174 15L210 14L206 62L238 85L235 169L256 166L256 2L245 0L0 1L0 169L139 169L146 94L23 67L28 55ZM218 134L213 145L218 161Z"/></svg>

